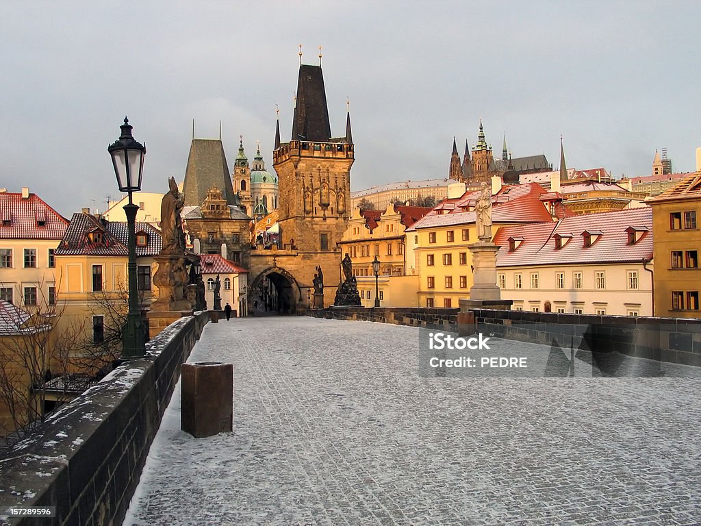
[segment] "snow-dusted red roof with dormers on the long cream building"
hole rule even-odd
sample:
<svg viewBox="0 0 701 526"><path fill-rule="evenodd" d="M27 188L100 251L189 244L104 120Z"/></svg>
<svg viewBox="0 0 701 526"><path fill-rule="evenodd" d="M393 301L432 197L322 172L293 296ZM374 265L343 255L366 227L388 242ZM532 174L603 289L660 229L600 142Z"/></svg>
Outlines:
<svg viewBox="0 0 701 526"><path fill-rule="evenodd" d="M634 245L628 244L626 229L629 227L644 231ZM648 206L574 215L558 222L504 227L494 238L494 243L502 247L496 254L496 266L640 262L653 255L652 227L652 209ZM593 229L597 233L600 231L601 236L585 247L582 234ZM555 248L556 234L565 240L569 238L562 248ZM509 238L523 238L524 241L509 252Z"/></svg>

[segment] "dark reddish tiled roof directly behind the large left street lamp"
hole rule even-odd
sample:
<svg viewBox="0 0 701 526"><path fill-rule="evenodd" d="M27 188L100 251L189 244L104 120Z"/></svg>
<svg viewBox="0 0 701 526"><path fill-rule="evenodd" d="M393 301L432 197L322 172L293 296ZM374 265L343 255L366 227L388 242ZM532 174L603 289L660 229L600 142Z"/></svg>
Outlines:
<svg viewBox="0 0 701 526"><path fill-rule="evenodd" d="M100 230L104 233L102 243L93 243L88 234ZM136 231L148 234L148 244L136 248L137 257L155 256L161 252L161 231L150 223L137 222ZM127 223L97 219L92 214L76 213L56 249L56 255L128 256Z"/></svg>

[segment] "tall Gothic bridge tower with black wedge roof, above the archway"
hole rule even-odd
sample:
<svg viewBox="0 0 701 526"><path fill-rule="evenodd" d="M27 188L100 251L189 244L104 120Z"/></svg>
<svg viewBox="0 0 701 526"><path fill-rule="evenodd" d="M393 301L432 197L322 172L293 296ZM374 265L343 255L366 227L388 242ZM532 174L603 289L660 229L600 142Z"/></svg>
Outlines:
<svg viewBox="0 0 701 526"><path fill-rule="evenodd" d="M338 243L351 215L351 117L346 116L346 135L332 138L320 65L299 65L290 142L280 143L279 127L278 121L273 167L281 245L340 262Z"/></svg>

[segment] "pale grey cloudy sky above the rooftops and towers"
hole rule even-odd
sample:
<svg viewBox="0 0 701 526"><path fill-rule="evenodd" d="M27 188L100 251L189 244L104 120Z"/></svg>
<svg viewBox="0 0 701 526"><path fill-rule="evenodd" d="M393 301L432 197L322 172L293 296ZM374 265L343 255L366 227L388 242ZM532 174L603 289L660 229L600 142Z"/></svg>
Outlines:
<svg viewBox="0 0 701 526"><path fill-rule="evenodd" d="M125 115L147 146L144 191L184 179L193 120L239 136L272 171L275 107L290 140L299 44L319 63L332 135L355 143L351 189L447 177L479 119L501 156L545 154L652 173L667 148L695 170L701 2L6 2L0 20L0 187L59 213L119 196L107 146Z"/></svg>

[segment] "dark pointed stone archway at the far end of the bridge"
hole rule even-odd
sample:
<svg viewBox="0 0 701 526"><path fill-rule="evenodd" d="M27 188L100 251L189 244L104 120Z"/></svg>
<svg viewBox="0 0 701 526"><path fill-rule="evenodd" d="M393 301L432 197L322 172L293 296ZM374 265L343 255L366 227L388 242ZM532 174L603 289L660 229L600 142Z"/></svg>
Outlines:
<svg viewBox="0 0 701 526"><path fill-rule="evenodd" d="M252 281L248 294L248 311L254 316L296 314L301 292L292 274L273 267Z"/></svg>

